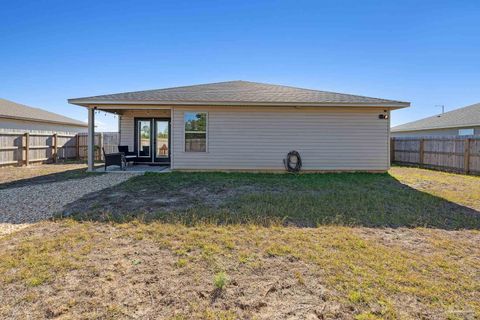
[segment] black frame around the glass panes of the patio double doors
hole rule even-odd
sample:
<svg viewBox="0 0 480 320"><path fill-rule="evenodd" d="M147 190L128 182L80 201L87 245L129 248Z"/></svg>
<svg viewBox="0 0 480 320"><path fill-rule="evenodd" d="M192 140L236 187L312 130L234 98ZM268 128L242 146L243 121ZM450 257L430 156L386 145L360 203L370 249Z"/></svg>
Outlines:
<svg viewBox="0 0 480 320"><path fill-rule="evenodd" d="M150 123L150 156L140 157L139 155L139 126L140 121L148 121ZM168 157L157 156L157 121L168 122ZM170 163L171 157L171 119L170 118L147 118L147 117L135 117L134 118L134 151L137 155L137 162L149 162L149 163Z"/></svg>

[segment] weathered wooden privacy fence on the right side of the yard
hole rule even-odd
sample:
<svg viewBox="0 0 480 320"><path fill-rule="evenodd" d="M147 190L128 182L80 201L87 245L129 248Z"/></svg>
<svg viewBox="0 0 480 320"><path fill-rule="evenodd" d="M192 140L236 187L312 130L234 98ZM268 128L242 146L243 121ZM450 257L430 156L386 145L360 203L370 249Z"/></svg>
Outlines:
<svg viewBox="0 0 480 320"><path fill-rule="evenodd" d="M399 164L480 174L480 137L392 138L390 152Z"/></svg>

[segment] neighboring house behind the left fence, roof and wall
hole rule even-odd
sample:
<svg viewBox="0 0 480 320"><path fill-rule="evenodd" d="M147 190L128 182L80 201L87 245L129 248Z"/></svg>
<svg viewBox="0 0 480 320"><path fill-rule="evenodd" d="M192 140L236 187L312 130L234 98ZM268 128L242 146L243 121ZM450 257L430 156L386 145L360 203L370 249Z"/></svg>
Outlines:
<svg viewBox="0 0 480 320"><path fill-rule="evenodd" d="M43 109L0 99L0 131L10 132L86 132L88 125Z"/></svg>

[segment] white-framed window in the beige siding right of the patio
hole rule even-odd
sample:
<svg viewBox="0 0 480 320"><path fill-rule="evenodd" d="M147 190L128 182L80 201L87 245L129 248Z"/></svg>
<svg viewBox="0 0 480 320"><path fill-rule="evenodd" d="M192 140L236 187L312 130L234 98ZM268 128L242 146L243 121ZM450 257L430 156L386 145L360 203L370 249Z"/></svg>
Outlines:
<svg viewBox="0 0 480 320"><path fill-rule="evenodd" d="M185 112L185 152L207 151L207 113Z"/></svg>

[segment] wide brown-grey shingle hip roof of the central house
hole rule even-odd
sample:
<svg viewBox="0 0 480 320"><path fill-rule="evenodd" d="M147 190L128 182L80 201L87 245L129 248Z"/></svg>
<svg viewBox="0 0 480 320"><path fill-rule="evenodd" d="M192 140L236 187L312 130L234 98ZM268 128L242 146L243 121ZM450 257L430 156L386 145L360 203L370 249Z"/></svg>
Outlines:
<svg viewBox="0 0 480 320"><path fill-rule="evenodd" d="M165 105L331 105L403 108L410 105L408 102L250 81L228 81L107 94L69 99L68 102L84 106L92 104L147 103Z"/></svg>

